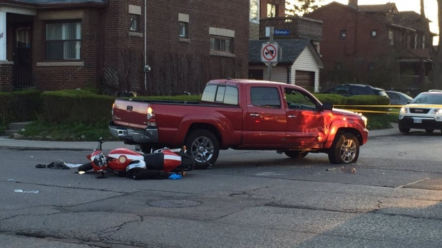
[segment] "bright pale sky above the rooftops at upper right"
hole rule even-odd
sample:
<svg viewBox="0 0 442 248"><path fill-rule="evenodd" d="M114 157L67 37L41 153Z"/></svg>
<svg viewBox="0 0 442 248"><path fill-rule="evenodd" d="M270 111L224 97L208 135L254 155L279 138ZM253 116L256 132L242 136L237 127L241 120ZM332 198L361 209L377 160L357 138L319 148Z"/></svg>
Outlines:
<svg viewBox="0 0 442 248"><path fill-rule="evenodd" d="M316 4L327 5L333 0L317 0ZM349 4L348 0L334 0L340 4ZM421 14L421 0L358 0L358 5L372 5L372 4L387 4L394 3L398 11L415 11ZM431 21L430 31L433 33L439 33L438 30L438 3L437 0L424 0L423 1L426 18ZM438 36L433 38L433 45L437 45Z"/></svg>

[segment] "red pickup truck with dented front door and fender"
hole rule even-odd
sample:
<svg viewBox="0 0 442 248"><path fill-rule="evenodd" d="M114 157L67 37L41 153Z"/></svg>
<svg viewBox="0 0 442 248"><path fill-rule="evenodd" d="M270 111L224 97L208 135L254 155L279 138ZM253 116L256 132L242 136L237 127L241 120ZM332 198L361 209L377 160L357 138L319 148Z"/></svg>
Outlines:
<svg viewBox="0 0 442 248"><path fill-rule="evenodd" d="M355 163L366 143L366 117L322 104L295 85L261 80L212 80L200 102L115 99L109 130L141 151L181 147L197 168L220 149L276 150L290 158L328 153Z"/></svg>

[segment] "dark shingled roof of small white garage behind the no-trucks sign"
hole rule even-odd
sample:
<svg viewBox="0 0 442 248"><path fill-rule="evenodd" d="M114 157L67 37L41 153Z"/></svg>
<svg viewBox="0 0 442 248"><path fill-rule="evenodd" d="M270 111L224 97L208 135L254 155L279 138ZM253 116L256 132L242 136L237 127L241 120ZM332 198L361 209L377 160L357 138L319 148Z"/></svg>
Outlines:
<svg viewBox="0 0 442 248"><path fill-rule="evenodd" d="M267 43L267 40L249 41L249 63L262 63L261 50L262 44ZM314 49L310 40L307 39L290 39L290 40L277 40L279 47L282 48L282 58L279 63L285 63L292 65L295 60L301 55L302 51L309 47L314 53L315 58L320 65L322 60L319 57L316 49Z"/></svg>

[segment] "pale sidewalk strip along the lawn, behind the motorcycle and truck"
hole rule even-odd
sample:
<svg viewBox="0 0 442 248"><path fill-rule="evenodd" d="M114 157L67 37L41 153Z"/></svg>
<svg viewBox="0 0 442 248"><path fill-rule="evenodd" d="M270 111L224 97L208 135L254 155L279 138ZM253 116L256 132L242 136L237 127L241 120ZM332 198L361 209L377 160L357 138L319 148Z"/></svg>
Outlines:
<svg viewBox="0 0 442 248"><path fill-rule="evenodd" d="M369 139L378 136L391 136L401 134L398 124L391 123L393 128L369 131ZM26 139L9 139L0 136L0 149L26 149L26 150L76 150L93 151L98 146L98 141L31 141ZM123 141L107 141L103 144L103 150L116 148L135 149L133 145L126 145Z"/></svg>

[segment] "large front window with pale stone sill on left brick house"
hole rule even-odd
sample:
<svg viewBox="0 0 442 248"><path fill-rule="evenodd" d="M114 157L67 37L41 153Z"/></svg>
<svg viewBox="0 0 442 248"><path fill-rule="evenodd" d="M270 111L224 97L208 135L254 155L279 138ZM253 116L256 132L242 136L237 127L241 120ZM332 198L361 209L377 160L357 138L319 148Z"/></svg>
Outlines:
<svg viewBox="0 0 442 248"><path fill-rule="evenodd" d="M81 48L81 22L46 24L46 59L78 60Z"/></svg>

